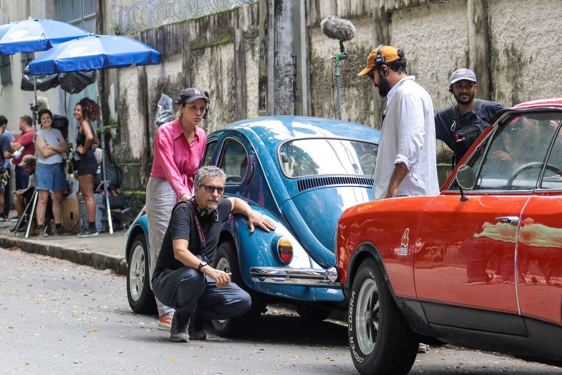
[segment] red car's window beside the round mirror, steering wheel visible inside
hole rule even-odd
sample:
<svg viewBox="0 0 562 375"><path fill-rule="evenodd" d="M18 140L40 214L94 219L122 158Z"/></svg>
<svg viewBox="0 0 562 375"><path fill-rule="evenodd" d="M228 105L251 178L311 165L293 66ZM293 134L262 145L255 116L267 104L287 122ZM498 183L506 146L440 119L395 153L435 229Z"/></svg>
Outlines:
<svg viewBox="0 0 562 375"><path fill-rule="evenodd" d="M482 159L474 189L536 188L556 132L551 120L552 114L542 112L513 115L502 121Z"/></svg>

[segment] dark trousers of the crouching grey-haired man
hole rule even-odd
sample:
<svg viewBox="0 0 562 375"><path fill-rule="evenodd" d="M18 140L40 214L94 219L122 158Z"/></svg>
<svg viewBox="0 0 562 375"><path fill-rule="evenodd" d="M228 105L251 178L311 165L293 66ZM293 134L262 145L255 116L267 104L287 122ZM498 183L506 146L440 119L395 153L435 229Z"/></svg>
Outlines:
<svg viewBox="0 0 562 375"><path fill-rule="evenodd" d="M250 295L237 284L217 288L210 277L191 267L166 269L153 279L152 290L158 300L182 315L198 308L207 319L228 319L252 306Z"/></svg>

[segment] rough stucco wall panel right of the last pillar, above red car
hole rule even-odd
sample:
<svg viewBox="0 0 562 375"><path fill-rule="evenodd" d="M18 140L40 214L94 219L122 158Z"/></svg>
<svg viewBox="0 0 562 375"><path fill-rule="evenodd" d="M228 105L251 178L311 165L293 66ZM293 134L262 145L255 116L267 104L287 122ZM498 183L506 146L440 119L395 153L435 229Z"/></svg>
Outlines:
<svg viewBox="0 0 562 375"><path fill-rule="evenodd" d="M489 2L492 98L505 105L560 96L562 2Z"/></svg>

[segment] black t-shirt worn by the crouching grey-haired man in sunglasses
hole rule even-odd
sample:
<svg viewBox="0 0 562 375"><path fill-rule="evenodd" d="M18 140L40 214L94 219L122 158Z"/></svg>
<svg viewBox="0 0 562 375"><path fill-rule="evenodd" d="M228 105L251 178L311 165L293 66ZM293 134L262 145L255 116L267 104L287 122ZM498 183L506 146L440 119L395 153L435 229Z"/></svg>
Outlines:
<svg viewBox="0 0 562 375"><path fill-rule="evenodd" d="M219 220L215 222L213 215L207 215L205 218L198 218L205 236L207 257L209 257L210 265L213 265L215 260L216 247L219 245L221 224L229 218L230 211L232 211L232 203L228 199L223 198L223 200L220 201L219 207L217 207ZM160 255L158 255L156 261L156 269L154 270L152 279L158 277L158 275L167 268L179 269L185 266L174 257L173 240L189 241L187 248L195 255L200 255L203 251L201 240L197 233L197 224L193 218L193 210L187 202L178 203L172 211L170 223L164 234L164 239L162 240Z"/></svg>

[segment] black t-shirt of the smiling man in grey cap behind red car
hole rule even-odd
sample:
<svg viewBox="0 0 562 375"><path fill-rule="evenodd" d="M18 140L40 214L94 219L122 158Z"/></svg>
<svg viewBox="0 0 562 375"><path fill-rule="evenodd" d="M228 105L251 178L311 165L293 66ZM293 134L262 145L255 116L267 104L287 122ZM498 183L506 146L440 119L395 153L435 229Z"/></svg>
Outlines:
<svg viewBox="0 0 562 375"><path fill-rule="evenodd" d="M478 106L478 102L482 102L482 107L478 111L478 117L481 118L486 125L488 125L490 119L496 114L496 112L505 108L505 106L496 102L480 99L477 99L476 101L477 103L474 106L475 108ZM441 141L445 142L451 150L454 150L453 147L455 140L453 139L451 131L453 121L456 119L456 129L462 129L465 126L472 124L473 116L474 114L471 111L466 112L463 116L459 116L457 106L450 106L437 111L435 114L435 135L437 139L441 139ZM459 155L459 159L462 156L463 155Z"/></svg>

